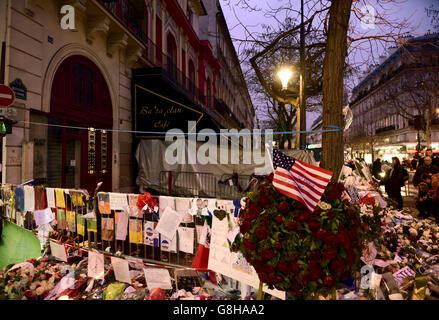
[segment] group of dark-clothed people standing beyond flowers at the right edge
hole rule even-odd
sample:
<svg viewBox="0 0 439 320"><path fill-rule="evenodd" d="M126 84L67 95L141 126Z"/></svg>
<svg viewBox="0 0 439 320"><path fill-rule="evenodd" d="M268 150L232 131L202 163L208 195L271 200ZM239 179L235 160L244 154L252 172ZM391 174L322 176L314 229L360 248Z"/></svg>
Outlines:
<svg viewBox="0 0 439 320"><path fill-rule="evenodd" d="M432 149L427 149L423 157L416 154L404 165L397 157L392 158L391 165L378 158L372 164L372 175L380 185L384 185L389 198L402 209L401 188L409 180L407 168L416 170L411 182L418 190L416 208L419 216L434 217L439 221L439 156L434 155Z"/></svg>

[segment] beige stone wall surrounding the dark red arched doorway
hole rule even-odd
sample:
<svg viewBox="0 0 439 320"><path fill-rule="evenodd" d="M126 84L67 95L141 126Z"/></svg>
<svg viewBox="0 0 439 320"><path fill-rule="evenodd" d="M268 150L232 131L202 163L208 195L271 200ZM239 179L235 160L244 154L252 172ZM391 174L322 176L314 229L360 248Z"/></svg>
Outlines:
<svg viewBox="0 0 439 320"><path fill-rule="evenodd" d="M73 2L72 2L73 3ZM92 60L103 74L110 91L113 110L113 129L131 130L131 75L130 68L135 65L127 62L125 50L115 50L107 55L107 34L96 32L91 40L87 17L88 7L76 7L76 30L62 30L60 27L59 1L10 1L8 28L6 79L16 78L27 87L27 99L16 100L16 120L19 121L13 134L6 138L7 183L22 183L44 174L44 166L33 166L46 161L47 141L44 127L23 123L29 120L42 120L32 116L30 110L50 112L50 92L53 77L62 61L71 55L83 55ZM85 11L82 11L85 9ZM96 10L96 6L93 6ZM112 22L113 23L113 22ZM103 30L108 26L103 26ZM87 29L88 28L88 29ZM87 41L89 38L89 41ZM91 40L91 41L90 41ZM129 65L128 65L129 63ZM112 186L115 191L133 189L132 177L132 137L130 134L114 133ZM29 157L35 161L29 161Z"/></svg>

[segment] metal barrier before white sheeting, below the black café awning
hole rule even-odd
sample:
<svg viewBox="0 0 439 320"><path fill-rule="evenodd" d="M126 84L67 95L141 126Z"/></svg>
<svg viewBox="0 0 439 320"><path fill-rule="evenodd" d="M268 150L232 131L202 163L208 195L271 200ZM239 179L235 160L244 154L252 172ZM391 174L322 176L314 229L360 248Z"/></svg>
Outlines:
<svg viewBox="0 0 439 320"><path fill-rule="evenodd" d="M208 197L240 200L252 180L250 175L238 175L235 181L230 174L218 178L203 172L160 172L160 193L180 197ZM233 181L229 183L229 181Z"/></svg>

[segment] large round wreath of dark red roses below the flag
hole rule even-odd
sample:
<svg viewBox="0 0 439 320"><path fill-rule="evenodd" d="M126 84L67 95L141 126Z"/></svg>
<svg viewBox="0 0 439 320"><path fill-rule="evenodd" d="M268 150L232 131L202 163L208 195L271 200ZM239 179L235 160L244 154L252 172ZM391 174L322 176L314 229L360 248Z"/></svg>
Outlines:
<svg viewBox="0 0 439 320"><path fill-rule="evenodd" d="M344 186L330 183L314 212L264 182L248 194L240 219L241 251L261 282L296 298L328 295L355 272L366 225L358 207L342 200Z"/></svg>

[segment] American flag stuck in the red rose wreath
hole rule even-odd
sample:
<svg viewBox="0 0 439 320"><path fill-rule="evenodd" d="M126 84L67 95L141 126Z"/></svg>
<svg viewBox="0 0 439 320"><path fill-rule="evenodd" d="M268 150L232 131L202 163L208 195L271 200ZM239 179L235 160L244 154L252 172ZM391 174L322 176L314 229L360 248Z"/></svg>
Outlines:
<svg viewBox="0 0 439 320"><path fill-rule="evenodd" d="M273 150L273 185L280 193L302 202L313 212L332 177L332 172Z"/></svg>

